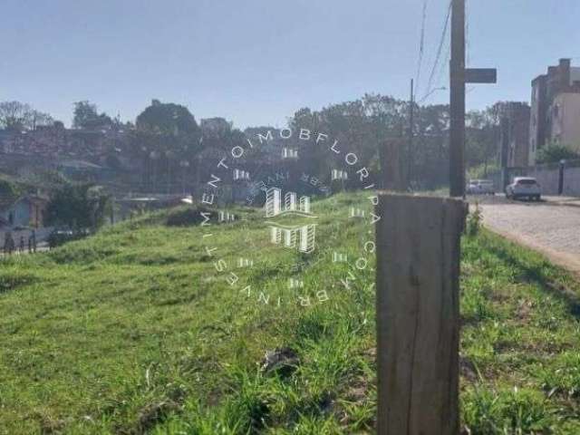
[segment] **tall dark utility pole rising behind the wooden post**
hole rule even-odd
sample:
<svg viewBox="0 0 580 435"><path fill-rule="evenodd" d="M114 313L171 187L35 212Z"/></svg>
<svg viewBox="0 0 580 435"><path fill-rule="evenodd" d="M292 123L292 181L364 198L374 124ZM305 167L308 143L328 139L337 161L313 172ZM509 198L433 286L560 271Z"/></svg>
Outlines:
<svg viewBox="0 0 580 435"><path fill-rule="evenodd" d="M449 196L465 195L465 0L452 0Z"/></svg>

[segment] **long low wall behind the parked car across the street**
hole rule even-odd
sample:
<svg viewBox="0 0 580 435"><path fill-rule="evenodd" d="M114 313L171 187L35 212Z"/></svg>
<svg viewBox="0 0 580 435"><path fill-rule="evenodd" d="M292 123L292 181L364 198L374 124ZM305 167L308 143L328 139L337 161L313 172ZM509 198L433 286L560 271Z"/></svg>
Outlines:
<svg viewBox="0 0 580 435"><path fill-rule="evenodd" d="M507 168L505 177L501 172L489 175L496 189L503 191L515 177L534 177L542 187L545 195L558 195L560 188L560 171L563 172L562 195L580 197L580 160L566 160L563 169L560 163L530 166L528 168Z"/></svg>

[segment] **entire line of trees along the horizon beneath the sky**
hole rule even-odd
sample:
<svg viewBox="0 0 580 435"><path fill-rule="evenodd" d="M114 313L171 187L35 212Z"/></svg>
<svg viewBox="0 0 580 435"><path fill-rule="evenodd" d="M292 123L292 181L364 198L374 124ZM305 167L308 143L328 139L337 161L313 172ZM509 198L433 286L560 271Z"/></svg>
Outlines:
<svg viewBox="0 0 580 435"><path fill-rule="evenodd" d="M498 157L499 118L502 105L498 103L484 111L467 114L466 162L469 168L492 166ZM409 125L410 102L391 96L366 94L352 102L331 104L314 111L303 108L289 118L288 127L328 134L339 140L350 152L355 152L362 164L375 172L380 170L380 150L385 140L399 138L411 146L402 150L408 163L411 184L419 188L434 188L448 179L449 106L415 104L413 125ZM34 111L18 102L0 103L0 126L34 129L53 122L49 115ZM153 100L135 123L121 123L105 112L99 112L92 102L74 103L73 127L86 130L128 131L131 155L140 162L143 181L150 186L175 184L180 173L196 161L218 155L223 150L245 143L247 137L274 128L263 126L239 131L231 122L221 118L199 125L185 106ZM405 139L407 138L407 139ZM402 143L402 142L401 142ZM337 162L322 147L308 146L295 141L299 150L299 165L305 172L328 179L330 169ZM246 157L265 157L264 150L251 150ZM277 152L268 147L267 152ZM334 158L336 159L336 158ZM189 172L191 172L189 170ZM169 189L169 188L168 188Z"/></svg>

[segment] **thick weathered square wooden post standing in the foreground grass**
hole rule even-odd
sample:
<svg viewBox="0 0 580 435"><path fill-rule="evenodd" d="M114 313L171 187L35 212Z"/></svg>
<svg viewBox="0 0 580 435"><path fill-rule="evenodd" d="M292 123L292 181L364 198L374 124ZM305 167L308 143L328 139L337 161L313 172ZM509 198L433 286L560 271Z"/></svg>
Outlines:
<svg viewBox="0 0 580 435"><path fill-rule="evenodd" d="M459 433L460 199L380 194L379 435Z"/></svg>

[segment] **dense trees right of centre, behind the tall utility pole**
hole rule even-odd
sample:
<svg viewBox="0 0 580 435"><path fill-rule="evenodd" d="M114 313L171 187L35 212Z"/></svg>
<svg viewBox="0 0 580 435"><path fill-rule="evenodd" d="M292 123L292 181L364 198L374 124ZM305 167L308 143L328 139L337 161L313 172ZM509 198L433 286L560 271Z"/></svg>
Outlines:
<svg viewBox="0 0 580 435"><path fill-rule="evenodd" d="M356 152L362 163L380 169L379 150L386 140L399 139L407 162L411 187L434 189L449 179L449 106L413 107L410 102L389 96L367 94L354 102L333 104L320 111L308 108L295 112L293 129L307 128L333 136ZM497 160L501 104L467 114L466 163L468 167L488 165ZM409 137L412 132L412 142ZM300 144L297 144L300 146ZM320 147L304 147L304 168L323 179L336 161ZM331 156L332 157L332 156Z"/></svg>

